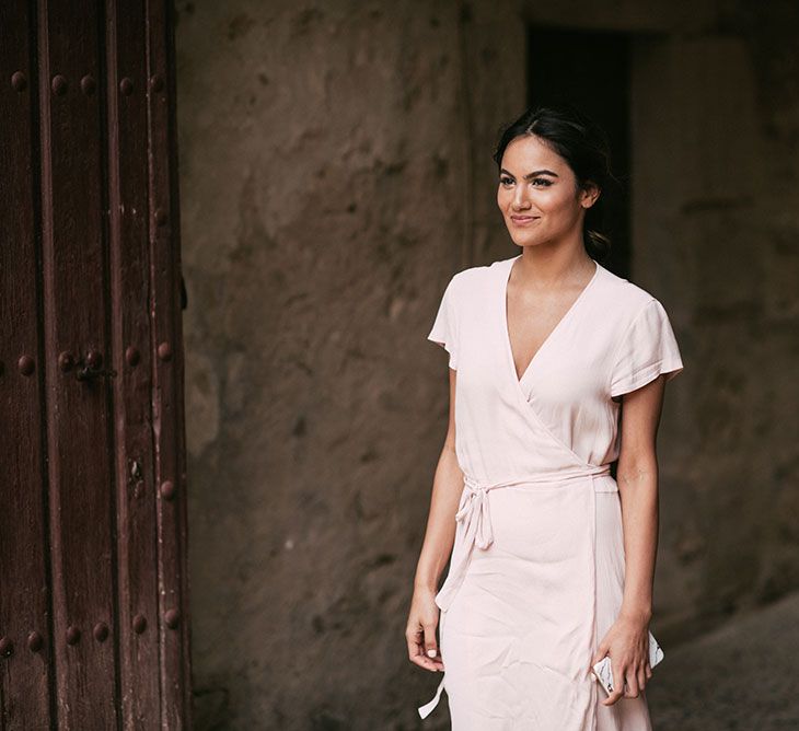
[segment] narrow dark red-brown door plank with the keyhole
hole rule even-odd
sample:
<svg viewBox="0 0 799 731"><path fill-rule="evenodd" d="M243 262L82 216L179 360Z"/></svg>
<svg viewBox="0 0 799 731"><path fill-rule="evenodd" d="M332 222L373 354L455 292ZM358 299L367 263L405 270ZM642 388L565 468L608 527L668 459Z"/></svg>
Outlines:
<svg viewBox="0 0 799 731"><path fill-rule="evenodd" d="M119 660L125 729L160 724L157 489L150 399L143 2L107 3L108 189Z"/></svg>

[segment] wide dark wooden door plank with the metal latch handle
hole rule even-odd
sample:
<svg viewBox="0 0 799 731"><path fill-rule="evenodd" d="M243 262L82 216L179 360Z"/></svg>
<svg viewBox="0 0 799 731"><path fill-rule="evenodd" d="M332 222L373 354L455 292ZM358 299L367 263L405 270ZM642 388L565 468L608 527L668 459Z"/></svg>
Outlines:
<svg viewBox="0 0 799 731"><path fill-rule="evenodd" d="M58 724L118 728L104 43L96 1L39 0L47 436Z"/></svg>

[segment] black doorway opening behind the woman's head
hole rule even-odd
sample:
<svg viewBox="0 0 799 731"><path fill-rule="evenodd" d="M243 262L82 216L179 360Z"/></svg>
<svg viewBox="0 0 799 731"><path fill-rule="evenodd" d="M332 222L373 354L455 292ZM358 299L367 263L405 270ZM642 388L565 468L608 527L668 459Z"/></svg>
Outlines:
<svg viewBox="0 0 799 731"><path fill-rule="evenodd" d="M630 39L623 33L528 28L528 103L571 103L592 117L611 143L618 186L604 190L612 240L603 262L622 277L630 271Z"/></svg>

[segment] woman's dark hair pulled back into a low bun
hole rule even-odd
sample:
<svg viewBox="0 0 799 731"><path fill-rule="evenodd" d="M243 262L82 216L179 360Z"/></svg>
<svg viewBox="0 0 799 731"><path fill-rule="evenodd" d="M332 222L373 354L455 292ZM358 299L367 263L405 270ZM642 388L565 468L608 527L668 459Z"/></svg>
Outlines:
<svg viewBox="0 0 799 731"><path fill-rule="evenodd" d="M569 165L578 188L594 183L605 190L616 182L611 172L611 150L604 130L571 104L530 107L518 119L499 130L499 142L494 152L497 167L502 166L505 150L517 137L535 136ZM611 240L601 232L604 214L603 196L586 210L582 243L592 259L603 260L611 250Z"/></svg>

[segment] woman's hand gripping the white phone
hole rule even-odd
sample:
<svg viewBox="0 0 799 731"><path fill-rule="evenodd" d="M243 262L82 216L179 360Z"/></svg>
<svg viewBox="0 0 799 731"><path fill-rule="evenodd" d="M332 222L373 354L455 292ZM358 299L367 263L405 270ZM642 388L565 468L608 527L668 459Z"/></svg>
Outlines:
<svg viewBox="0 0 799 731"><path fill-rule="evenodd" d="M597 648L591 665L606 654L611 655L614 687L602 705L612 706L622 697L637 698L652 676L649 666L649 622L619 614Z"/></svg>

